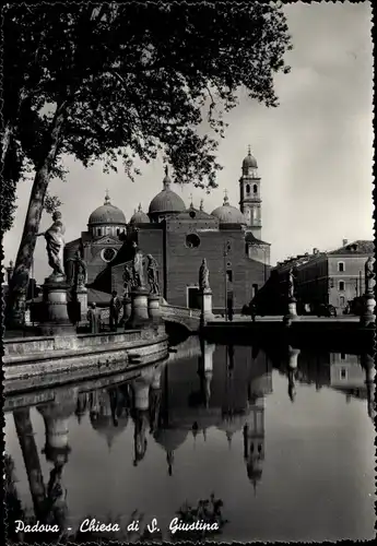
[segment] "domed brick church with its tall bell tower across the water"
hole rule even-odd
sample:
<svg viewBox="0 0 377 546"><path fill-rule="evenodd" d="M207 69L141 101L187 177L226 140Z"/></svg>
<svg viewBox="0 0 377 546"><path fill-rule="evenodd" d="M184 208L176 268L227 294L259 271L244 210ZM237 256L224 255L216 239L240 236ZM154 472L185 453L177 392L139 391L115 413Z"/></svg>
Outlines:
<svg viewBox="0 0 377 546"><path fill-rule="evenodd" d="M203 258L210 270L214 312L232 300L235 312L256 295L270 270L270 244L261 237L261 179L249 149L241 164L239 207L224 202L211 213L203 202L189 206L172 189L166 168L163 188L148 209L141 204L126 221L123 212L105 202L89 217L87 229L64 249L66 273L70 258L80 251L87 265L89 302L107 305L113 290L123 293L125 263L132 259L132 242L158 265L161 295L174 306L199 307L198 272Z"/></svg>

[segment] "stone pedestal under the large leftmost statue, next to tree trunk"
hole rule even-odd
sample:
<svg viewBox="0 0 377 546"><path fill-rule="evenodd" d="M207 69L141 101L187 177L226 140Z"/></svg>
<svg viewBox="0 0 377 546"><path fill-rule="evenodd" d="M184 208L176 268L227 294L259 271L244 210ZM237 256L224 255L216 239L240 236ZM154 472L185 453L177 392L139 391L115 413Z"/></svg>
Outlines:
<svg viewBox="0 0 377 546"><path fill-rule="evenodd" d="M66 277L48 277L43 285L44 320L40 330L44 335L74 334L75 329L68 317L67 295L70 286Z"/></svg>

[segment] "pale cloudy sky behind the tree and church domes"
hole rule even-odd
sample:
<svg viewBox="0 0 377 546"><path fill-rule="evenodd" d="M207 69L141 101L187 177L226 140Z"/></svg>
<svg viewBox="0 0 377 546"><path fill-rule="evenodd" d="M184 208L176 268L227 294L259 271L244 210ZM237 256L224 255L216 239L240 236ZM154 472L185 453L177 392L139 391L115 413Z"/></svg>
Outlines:
<svg viewBox="0 0 377 546"><path fill-rule="evenodd" d="M237 206L240 165L248 144L262 178L262 239L271 242L271 263L288 256L341 246L342 239L373 238L373 46L368 2L302 2L285 7L294 50L288 75L275 78L280 107L268 109L243 97L233 110L219 158L224 169L219 188L174 188L187 205L190 193L211 212L224 189ZM68 182L54 180L50 192L63 202L66 240L86 229L91 212L103 204L108 188L113 204L127 221L138 203L148 211L162 189L163 165L143 166L132 183L125 174L104 175L102 165L84 169L68 157ZM19 247L31 185L19 188L13 230L4 238L5 263ZM43 216L42 228L50 224ZM35 276L49 274L44 239L35 252Z"/></svg>

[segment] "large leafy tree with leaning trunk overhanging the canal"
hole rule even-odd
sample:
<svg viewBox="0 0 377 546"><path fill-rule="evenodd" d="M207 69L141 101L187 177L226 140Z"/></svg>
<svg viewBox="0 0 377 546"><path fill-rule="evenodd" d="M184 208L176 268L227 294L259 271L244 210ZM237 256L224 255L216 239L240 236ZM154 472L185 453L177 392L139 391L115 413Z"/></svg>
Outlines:
<svg viewBox="0 0 377 546"><path fill-rule="evenodd" d="M21 311L48 182L72 154L84 166L158 153L175 181L215 187L224 112L249 97L276 106L273 73L288 71L282 9L264 3L12 5L4 13L4 150L35 171L10 307ZM207 119L212 135L197 128ZM7 136L8 135L8 136ZM9 151L9 152L8 152ZM21 299L20 299L21 298Z"/></svg>

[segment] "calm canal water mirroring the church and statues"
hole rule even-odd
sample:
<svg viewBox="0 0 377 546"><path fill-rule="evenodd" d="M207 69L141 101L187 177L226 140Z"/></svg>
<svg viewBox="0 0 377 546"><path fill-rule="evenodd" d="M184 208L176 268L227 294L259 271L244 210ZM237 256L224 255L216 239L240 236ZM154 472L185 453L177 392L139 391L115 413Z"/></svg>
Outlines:
<svg viewBox="0 0 377 546"><path fill-rule="evenodd" d="M133 377L12 395L5 454L21 511L11 518L42 521L55 495L48 521L64 536L95 519L136 541L130 522L143 531L155 520L155 539L181 539L170 521L200 519L209 500L212 539L372 539L373 396L370 355L196 337Z"/></svg>

